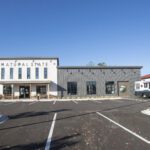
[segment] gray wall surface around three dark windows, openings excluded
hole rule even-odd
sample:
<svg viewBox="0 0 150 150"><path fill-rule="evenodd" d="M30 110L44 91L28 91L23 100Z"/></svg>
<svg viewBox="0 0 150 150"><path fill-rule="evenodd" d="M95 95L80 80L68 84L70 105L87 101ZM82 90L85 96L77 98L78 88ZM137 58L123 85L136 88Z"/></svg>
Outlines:
<svg viewBox="0 0 150 150"><path fill-rule="evenodd" d="M129 82L128 96L134 96L134 82L140 79L140 68L58 68L58 95L69 97L67 82L77 82L77 95L75 97L118 96L118 81ZM86 82L96 81L96 95L87 95ZM106 81L115 82L115 93L106 94Z"/></svg>

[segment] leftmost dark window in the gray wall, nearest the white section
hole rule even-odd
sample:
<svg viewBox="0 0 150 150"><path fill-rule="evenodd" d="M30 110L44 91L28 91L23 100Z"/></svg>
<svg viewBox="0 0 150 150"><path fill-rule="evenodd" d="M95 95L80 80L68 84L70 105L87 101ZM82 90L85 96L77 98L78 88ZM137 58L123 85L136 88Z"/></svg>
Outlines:
<svg viewBox="0 0 150 150"><path fill-rule="evenodd" d="M68 82L67 91L69 95L76 95L77 94L77 82Z"/></svg>

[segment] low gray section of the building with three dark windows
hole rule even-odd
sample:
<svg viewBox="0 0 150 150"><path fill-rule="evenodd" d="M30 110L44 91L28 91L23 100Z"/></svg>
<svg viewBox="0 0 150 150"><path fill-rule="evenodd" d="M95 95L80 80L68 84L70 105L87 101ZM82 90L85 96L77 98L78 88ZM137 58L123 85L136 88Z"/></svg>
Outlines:
<svg viewBox="0 0 150 150"><path fill-rule="evenodd" d="M58 67L60 97L100 97L134 95L140 66Z"/></svg>

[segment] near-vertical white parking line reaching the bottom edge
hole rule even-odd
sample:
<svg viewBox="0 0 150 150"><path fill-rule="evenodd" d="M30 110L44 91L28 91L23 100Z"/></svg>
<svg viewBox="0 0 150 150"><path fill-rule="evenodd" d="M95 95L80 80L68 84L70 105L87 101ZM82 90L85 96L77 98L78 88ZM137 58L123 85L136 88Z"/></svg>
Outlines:
<svg viewBox="0 0 150 150"><path fill-rule="evenodd" d="M53 117L53 122L52 122L50 131L49 131L49 135L47 138L45 150L50 150L50 148L51 148L51 141L52 141L52 135L53 135L54 127L55 127L56 117L57 117L57 113L55 113L55 115Z"/></svg>

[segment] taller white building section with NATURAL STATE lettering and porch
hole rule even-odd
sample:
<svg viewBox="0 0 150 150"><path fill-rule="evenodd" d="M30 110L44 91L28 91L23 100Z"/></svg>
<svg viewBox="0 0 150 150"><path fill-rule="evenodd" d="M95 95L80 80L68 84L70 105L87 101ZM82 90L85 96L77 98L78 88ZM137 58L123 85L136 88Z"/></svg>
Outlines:
<svg viewBox="0 0 150 150"><path fill-rule="evenodd" d="M0 58L0 95L3 98L57 96L58 58Z"/></svg>

